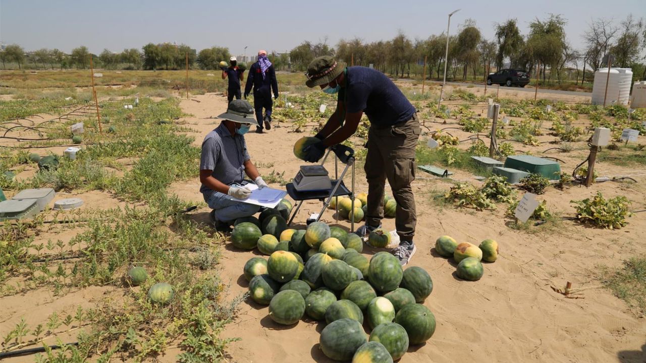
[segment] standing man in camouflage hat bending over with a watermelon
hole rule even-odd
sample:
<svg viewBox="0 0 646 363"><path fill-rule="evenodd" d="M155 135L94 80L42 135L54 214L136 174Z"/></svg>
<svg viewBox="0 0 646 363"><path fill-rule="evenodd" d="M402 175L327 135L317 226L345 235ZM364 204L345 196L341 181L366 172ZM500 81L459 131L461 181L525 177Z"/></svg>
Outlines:
<svg viewBox="0 0 646 363"><path fill-rule="evenodd" d="M415 199L410 183L415 179L415 147L421 134L415 107L384 74L367 67L347 67L333 57L322 56L307 66L307 87L320 87L328 94L338 94L337 109L323 129L316 134L320 141L304 149L306 161L317 162L328 147L348 139L357 131L361 116L370 121L366 179L368 179L368 212L366 225L357 229L366 236L381 227L384 218L386 180L397 201L395 226L399 247L392 252L402 265L408 264L416 248Z"/></svg>

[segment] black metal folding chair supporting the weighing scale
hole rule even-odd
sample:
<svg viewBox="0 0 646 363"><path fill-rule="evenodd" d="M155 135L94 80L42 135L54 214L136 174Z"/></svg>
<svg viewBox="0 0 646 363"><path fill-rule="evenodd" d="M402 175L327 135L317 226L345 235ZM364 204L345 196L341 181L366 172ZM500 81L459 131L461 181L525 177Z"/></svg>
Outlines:
<svg viewBox="0 0 646 363"><path fill-rule="evenodd" d="M293 211L291 214L291 217L289 218L289 222L287 222L287 225L291 225L291 222L293 222L296 214L298 213L298 210L300 209L300 206L305 202L306 200L315 200L318 199L321 202L323 202L323 208L321 209L320 213L318 213L317 216L317 221L321 218L325 210L329 206L329 202L332 200L333 197L339 197L339 196L344 196L344 195L349 195L351 200L352 200L352 210L354 211L355 208L355 150L345 146L345 145L335 145L331 147L328 152L326 152L325 156L323 157L323 160L321 161L320 165L324 165L325 161L328 158L328 155L333 152L335 154L335 160L334 160L334 180L332 180L332 187L331 189L326 189L323 191L308 191L308 192L299 192L296 190L294 187L294 183L288 183L286 185L287 189L287 194L291 196L291 198L295 201L298 202L298 205L296 206L296 209ZM339 176L339 161L344 163L346 166L344 167L343 171L341 172L341 176ZM352 169L352 182L351 182L351 189L348 189L346 187L345 183L343 182L344 176L346 176L346 173L348 172L348 169ZM336 205L336 214L335 214L335 219L337 222L339 222L339 205L337 203ZM351 218L351 232L355 231L355 222Z"/></svg>

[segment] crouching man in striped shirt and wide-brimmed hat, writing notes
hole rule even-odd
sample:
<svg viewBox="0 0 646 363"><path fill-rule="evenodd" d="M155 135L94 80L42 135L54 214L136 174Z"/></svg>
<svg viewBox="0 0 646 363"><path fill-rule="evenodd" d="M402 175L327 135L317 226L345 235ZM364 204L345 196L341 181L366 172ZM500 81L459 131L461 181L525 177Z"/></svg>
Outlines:
<svg viewBox="0 0 646 363"><path fill-rule="evenodd" d="M220 126L202 142L200 192L213 209L211 222L218 231L229 231L237 218L253 216L260 209L258 205L242 202L251 194L245 187L248 183L244 180L245 174L258 188L267 187L251 162L244 140L249 127L258 126L253 114L253 107L244 99L231 101L227 112L218 116L223 119Z"/></svg>

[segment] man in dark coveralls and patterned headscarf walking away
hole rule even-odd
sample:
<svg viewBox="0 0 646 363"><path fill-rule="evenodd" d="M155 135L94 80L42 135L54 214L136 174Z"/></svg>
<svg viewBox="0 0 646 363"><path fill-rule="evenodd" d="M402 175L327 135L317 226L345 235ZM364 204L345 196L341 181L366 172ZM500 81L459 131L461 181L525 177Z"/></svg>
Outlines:
<svg viewBox="0 0 646 363"><path fill-rule="evenodd" d="M256 111L258 128L256 132L262 134L264 127L271 129L271 107L273 100L271 93L273 91L274 99L278 98L278 82L276 81L276 71L271 61L267 59L265 50L258 51L258 61L249 68L247 84L244 88L244 98L246 99L253 87L253 107ZM264 116L262 109L265 109Z"/></svg>

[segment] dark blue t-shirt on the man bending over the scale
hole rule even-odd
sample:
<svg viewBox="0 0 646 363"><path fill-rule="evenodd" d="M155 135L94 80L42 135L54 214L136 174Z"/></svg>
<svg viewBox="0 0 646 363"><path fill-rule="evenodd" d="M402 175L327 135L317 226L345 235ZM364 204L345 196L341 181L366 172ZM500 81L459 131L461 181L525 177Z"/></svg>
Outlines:
<svg viewBox="0 0 646 363"><path fill-rule="evenodd" d="M339 90L338 99L346 103L347 113L363 111L377 126L408 121L415 113L415 107L395 83L373 68L348 67L346 87Z"/></svg>

